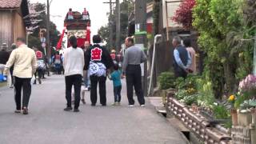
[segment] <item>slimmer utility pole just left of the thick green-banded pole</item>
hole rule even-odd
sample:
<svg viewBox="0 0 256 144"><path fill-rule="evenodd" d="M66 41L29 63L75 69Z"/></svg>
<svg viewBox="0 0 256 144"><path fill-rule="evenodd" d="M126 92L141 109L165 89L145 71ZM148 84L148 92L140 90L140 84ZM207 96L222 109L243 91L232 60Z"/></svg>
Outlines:
<svg viewBox="0 0 256 144"><path fill-rule="evenodd" d="M116 41L115 41L115 50L119 51L121 49L121 42L120 42L120 36L121 36L121 31L120 31L120 21L121 21L121 11L120 11L120 2L119 0L116 0L116 6L115 6L115 11L116 11Z"/></svg>

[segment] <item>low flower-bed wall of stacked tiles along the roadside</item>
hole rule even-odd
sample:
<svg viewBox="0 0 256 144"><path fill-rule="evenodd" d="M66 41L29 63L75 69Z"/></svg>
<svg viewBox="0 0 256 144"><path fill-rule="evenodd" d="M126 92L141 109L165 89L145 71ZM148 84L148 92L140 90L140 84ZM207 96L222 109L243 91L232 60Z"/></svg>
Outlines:
<svg viewBox="0 0 256 144"><path fill-rule="evenodd" d="M194 113L189 107L174 98L173 93L167 93L166 111L174 114L183 124L194 132L205 143L229 144L231 137L215 127L210 127L210 122L201 114Z"/></svg>

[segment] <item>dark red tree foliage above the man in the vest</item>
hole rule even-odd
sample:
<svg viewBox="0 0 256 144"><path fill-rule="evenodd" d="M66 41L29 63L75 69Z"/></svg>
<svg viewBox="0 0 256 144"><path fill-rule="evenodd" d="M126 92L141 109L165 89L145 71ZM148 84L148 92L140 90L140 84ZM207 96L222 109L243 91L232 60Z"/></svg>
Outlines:
<svg viewBox="0 0 256 144"><path fill-rule="evenodd" d="M195 0L185 0L180 3L178 10L176 10L174 22L182 24L186 29L192 28L192 9L194 8Z"/></svg>

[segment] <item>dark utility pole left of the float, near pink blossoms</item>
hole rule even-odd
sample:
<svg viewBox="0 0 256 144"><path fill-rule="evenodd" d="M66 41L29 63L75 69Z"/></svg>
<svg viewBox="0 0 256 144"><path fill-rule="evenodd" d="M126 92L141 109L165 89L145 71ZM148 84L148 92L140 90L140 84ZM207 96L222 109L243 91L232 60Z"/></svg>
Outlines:
<svg viewBox="0 0 256 144"><path fill-rule="evenodd" d="M50 3L47 0L47 15L46 15L46 47L47 47L47 58L50 60L51 50L50 50Z"/></svg>

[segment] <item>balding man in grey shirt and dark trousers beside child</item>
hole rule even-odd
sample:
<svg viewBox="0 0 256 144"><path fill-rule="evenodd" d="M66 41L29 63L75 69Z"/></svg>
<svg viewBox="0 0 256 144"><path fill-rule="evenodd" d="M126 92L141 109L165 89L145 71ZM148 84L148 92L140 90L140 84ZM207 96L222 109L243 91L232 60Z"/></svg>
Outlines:
<svg viewBox="0 0 256 144"><path fill-rule="evenodd" d="M146 54L137 46L134 46L133 38L126 38L126 52L122 65L123 76L126 76L127 97L129 106L134 106L134 90L140 106L145 106L142 90L142 69L140 64L146 62Z"/></svg>

